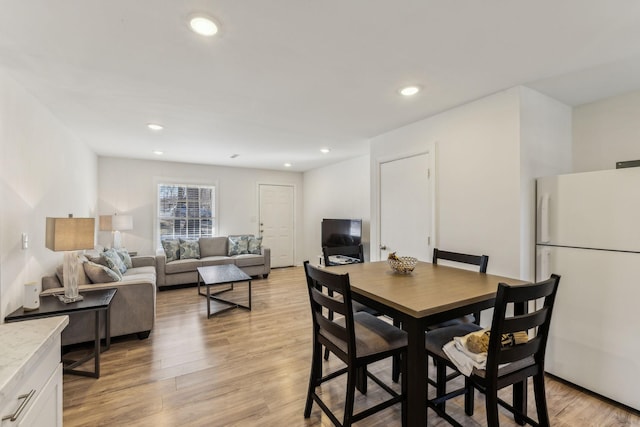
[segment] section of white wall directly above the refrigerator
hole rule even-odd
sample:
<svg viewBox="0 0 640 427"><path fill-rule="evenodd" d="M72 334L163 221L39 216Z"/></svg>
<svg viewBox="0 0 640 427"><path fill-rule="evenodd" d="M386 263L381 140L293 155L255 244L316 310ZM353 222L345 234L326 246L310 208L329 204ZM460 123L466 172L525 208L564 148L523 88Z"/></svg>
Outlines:
<svg viewBox="0 0 640 427"><path fill-rule="evenodd" d="M615 169L640 160L640 91L576 107L573 112L573 172Z"/></svg>

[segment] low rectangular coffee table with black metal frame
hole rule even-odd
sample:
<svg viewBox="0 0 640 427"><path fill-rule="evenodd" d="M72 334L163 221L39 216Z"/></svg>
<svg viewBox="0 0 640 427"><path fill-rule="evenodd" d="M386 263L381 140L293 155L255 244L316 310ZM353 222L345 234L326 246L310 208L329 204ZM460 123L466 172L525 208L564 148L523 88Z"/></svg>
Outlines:
<svg viewBox="0 0 640 427"><path fill-rule="evenodd" d="M200 291L200 282L202 282L207 289L206 293ZM249 283L249 304L242 305L230 300L222 299L218 295L229 292L234 289L234 283L248 282ZM226 286L225 289L211 293L211 287L214 286ZM208 267L198 267L198 294L207 297L207 319L211 316L222 313L234 308L245 308L251 310L251 276L240 270L234 264L225 265L211 265ZM226 305L221 310L211 312L211 300L221 302Z"/></svg>

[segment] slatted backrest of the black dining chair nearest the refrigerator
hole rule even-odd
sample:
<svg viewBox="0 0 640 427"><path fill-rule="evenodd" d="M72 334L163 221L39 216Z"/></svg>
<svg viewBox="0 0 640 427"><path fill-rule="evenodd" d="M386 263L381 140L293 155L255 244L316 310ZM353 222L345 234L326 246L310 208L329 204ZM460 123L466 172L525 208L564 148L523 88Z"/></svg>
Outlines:
<svg viewBox="0 0 640 427"><path fill-rule="evenodd" d="M551 313L559 282L560 276L553 274L549 279L537 283L498 285L487 350L486 378L497 375L499 367L505 363L518 362L530 357L533 357L535 364L543 370ZM532 305L529 302L539 305L540 299L544 299L542 306L526 312ZM513 309L513 315L507 316L509 307ZM534 337L524 344L503 344L503 336L523 331Z"/></svg>

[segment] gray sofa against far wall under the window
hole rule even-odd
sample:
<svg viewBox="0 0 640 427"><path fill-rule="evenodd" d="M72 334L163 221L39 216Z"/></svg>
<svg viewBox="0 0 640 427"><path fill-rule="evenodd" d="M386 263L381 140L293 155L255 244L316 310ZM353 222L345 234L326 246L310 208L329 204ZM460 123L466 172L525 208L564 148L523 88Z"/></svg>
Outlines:
<svg viewBox="0 0 640 427"><path fill-rule="evenodd" d="M251 238L253 236L246 235ZM156 253L156 273L158 287L184 285L198 282L197 267L235 264L249 276L267 278L271 272L271 250L260 246L259 253L232 254L229 238L240 236L201 237L198 240L197 257L191 254L187 259L167 261L167 251ZM184 251L182 251L184 253Z"/></svg>

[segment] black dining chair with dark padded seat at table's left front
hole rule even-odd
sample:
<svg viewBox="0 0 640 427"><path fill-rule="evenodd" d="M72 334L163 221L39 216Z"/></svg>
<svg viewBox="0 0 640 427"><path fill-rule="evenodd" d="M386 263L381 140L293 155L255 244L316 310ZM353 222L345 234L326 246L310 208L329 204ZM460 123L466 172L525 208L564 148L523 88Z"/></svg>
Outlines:
<svg viewBox="0 0 640 427"><path fill-rule="evenodd" d="M406 425L405 376L403 375L401 392L397 393L366 370L366 366L370 363L406 354L406 332L369 313L354 313L348 274L335 274L328 269L318 269L311 266L308 261L304 262L304 269L313 320L313 356L304 417L311 416L313 402L316 402L336 426L347 427L378 411L401 403L402 425ZM329 296L325 291L332 291L333 296ZM328 312L334 312L340 316L337 319L332 319L329 318ZM322 346L334 353L344 362L346 367L323 376ZM406 357L401 357L401 359L406 361ZM389 393L391 398L354 414L356 373L358 371L365 373L365 381L366 378L372 379ZM406 372L406 363L403 363L402 371ZM321 393L316 392L316 388L345 373L347 374L346 398L344 417L340 423L327 404L323 402Z"/></svg>

